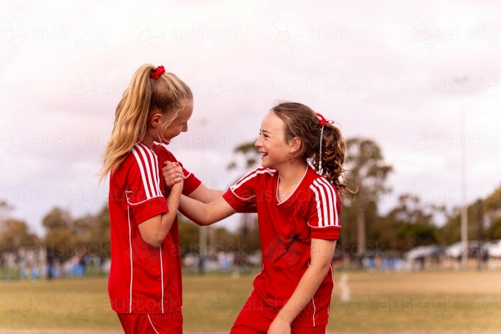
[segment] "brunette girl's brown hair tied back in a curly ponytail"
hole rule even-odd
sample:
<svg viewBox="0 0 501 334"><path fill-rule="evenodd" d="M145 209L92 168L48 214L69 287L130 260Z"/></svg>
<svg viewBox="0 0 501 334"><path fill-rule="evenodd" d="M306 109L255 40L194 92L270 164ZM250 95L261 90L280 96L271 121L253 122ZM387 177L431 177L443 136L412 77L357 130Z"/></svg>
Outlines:
<svg viewBox="0 0 501 334"><path fill-rule="evenodd" d="M289 141L297 137L301 140L301 146L291 160L308 161L318 174L337 188L341 197L354 194L355 191L349 189L340 180L346 171L343 168L346 145L341 130L326 123L322 131L317 114L301 103L280 102L272 108L272 111L285 124L285 139ZM322 140L320 140L321 134ZM320 151L322 151L322 156L320 156Z"/></svg>

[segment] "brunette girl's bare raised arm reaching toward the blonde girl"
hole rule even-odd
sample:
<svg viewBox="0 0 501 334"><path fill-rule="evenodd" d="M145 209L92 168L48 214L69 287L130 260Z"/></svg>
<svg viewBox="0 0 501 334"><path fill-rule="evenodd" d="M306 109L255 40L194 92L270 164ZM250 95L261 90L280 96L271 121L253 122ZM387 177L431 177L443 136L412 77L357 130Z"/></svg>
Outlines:
<svg viewBox="0 0 501 334"><path fill-rule="evenodd" d="M222 196L205 204L184 195L180 198L179 211L200 226L213 224L236 212Z"/></svg>

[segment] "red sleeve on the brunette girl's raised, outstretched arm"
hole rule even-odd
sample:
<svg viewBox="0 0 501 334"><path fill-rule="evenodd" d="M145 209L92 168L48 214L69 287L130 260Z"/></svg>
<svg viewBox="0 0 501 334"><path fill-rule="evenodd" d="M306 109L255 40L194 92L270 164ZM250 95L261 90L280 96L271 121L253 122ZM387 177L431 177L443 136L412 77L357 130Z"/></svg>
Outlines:
<svg viewBox="0 0 501 334"><path fill-rule="evenodd" d="M263 174L261 169L247 173L222 195L237 212L244 212L249 205L256 204L256 184L258 176Z"/></svg>

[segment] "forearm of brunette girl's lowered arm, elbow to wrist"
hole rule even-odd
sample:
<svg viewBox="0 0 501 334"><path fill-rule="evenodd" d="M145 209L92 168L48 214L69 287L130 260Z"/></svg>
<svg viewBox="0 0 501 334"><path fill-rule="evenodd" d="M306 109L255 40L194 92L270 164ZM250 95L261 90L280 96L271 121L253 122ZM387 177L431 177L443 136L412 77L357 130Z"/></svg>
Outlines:
<svg viewBox="0 0 501 334"><path fill-rule="evenodd" d="M304 273L299 281L296 290L291 298L282 307L277 314L276 319L291 323L299 313L305 308L310 300L312 300L318 287L329 272L330 263L312 264Z"/></svg>

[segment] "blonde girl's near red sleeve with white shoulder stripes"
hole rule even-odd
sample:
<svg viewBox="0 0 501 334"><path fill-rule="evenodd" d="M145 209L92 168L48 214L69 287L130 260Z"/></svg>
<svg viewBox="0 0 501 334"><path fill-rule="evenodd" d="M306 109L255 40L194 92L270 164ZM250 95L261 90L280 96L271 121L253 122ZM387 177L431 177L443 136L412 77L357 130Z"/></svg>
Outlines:
<svg viewBox="0 0 501 334"><path fill-rule="evenodd" d="M127 205L132 209L139 224L157 214L169 212L169 209L160 190L156 154L140 144L132 148L132 154L134 159L127 173L125 193Z"/></svg>

